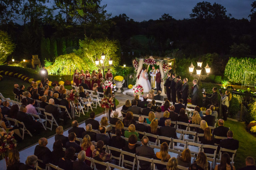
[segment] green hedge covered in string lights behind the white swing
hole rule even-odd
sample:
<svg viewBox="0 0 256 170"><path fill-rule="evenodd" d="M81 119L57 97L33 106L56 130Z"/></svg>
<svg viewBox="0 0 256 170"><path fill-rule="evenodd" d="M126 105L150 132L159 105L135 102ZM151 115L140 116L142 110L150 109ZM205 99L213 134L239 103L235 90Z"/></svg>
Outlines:
<svg viewBox="0 0 256 170"><path fill-rule="evenodd" d="M245 71L256 72L256 59L230 57L224 75L230 82L242 83ZM249 81L256 80L256 74L247 77Z"/></svg>

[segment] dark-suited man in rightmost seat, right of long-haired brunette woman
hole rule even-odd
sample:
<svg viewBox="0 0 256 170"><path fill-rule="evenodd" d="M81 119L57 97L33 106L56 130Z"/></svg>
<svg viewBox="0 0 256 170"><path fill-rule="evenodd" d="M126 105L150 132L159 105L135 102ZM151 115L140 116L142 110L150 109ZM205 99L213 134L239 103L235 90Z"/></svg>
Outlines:
<svg viewBox="0 0 256 170"><path fill-rule="evenodd" d="M233 139L233 132L229 130L227 132L227 139L222 139L220 141L220 147L225 148L225 149L230 149L230 150L236 150L239 147L239 141L236 139ZM231 157L232 154L229 153L229 156Z"/></svg>

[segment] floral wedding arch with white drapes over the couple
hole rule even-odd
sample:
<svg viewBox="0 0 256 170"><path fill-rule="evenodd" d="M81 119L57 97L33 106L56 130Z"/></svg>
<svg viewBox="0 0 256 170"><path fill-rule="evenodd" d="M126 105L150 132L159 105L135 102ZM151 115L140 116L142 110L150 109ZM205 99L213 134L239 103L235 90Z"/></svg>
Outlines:
<svg viewBox="0 0 256 170"><path fill-rule="evenodd" d="M154 59L153 56L149 56L146 59L144 59L144 58L139 58L139 59L135 58L132 61L132 64L135 68L135 72L136 72L136 77L135 78L136 78L136 84L137 84L138 76L140 75L143 64L148 65L148 68L149 68L150 65L159 65L161 78L164 80L165 78L167 78L167 72L168 72L169 65L171 65L171 62L170 62L170 58ZM147 68L147 70L148 70L148 68ZM164 82L165 82L165 80L164 80ZM162 87L164 87L164 82L161 83ZM162 88L162 95L166 95L164 88Z"/></svg>

